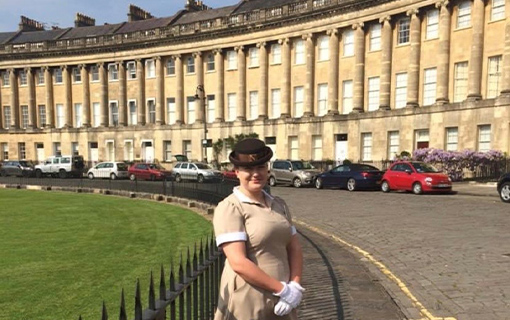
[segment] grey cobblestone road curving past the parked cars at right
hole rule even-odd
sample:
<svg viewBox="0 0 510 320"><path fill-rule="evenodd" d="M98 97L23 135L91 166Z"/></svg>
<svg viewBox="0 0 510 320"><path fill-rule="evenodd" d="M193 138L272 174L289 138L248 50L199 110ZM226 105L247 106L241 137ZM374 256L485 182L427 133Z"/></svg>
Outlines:
<svg viewBox="0 0 510 320"><path fill-rule="evenodd" d="M421 196L292 187L271 191L288 202L298 229L299 222L316 227L345 241L344 247L367 251L387 268L383 273L355 252L407 318L509 320L510 205L497 198L494 186L457 189L453 195ZM474 196L476 190L483 196Z"/></svg>

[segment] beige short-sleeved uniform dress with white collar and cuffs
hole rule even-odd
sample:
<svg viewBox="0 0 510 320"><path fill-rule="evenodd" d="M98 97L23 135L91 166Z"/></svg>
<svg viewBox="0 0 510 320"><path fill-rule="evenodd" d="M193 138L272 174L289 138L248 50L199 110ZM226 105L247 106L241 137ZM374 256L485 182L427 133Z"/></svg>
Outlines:
<svg viewBox="0 0 510 320"><path fill-rule="evenodd" d="M214 232L218 246L246 242L246 255L269 276L290 279L287 245L296 233L285 202L265 193L269 208L246 197L238 188L214 211ZM218 309L214 320L297 320L296 310L283 317L274 314L279 298L252 286L236 274L228 259L221 277Z"/></svg>

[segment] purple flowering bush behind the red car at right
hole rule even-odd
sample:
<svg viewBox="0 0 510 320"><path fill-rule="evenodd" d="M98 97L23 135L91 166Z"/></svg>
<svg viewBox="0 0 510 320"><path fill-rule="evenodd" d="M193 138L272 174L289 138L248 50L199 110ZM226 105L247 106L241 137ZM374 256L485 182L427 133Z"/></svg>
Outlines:
<svg viewBox="0 0 510 320"><path fill-rule="evenodd" d="M430 163L443 169L453 181L462 180L465 170L475 172L478 168L493 166L504 159L505 154L499 150L479 152L424 148L413 152L413 160Z"/></svg>

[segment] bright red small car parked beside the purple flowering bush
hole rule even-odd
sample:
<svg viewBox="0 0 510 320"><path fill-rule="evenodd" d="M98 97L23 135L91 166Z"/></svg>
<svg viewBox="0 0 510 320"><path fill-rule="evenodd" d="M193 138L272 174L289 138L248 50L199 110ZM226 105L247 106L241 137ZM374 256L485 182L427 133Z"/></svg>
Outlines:
<svg viewBox="0 0 510 320"><path fill-rule="evenodd" d="M451 192L452 181L448 175L428 163L419 161L399 161L391 165L384 173L381 190L423 192Z"/></svg>

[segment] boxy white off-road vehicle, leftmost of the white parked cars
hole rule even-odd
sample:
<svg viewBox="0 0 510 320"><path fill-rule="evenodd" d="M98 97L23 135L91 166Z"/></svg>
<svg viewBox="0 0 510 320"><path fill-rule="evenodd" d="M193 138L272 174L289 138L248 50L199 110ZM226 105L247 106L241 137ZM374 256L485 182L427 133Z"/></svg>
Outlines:
<svg viewBox="0 0 510 320"><path fill-rule="evenodd" d="M35 176L58 176L59 178L82 177L85 164L82 156L53 156L35 166Z"/></svg>

